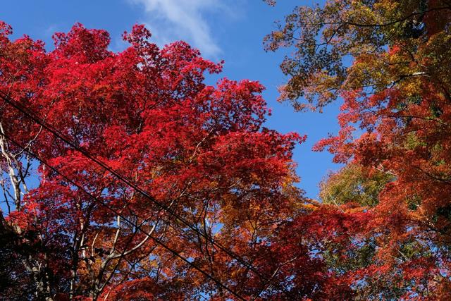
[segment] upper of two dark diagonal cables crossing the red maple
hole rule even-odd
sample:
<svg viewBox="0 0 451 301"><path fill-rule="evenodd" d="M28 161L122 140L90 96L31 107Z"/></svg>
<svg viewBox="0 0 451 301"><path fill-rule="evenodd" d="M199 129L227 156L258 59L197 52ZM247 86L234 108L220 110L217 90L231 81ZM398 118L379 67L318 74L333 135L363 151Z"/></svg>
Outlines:
<svg viewBox="0 0 451 301"><path fill-rule="evenodd" d="M80 152L81 154L86 156L89 160L94 161L96 164L98 164L99 166L104 168L106 171L109 171L111 174L113 174L113 176L116 176L116 178L118 178L118 180L121 180L123 183L125 183L128 186L130 186L135 191L139 192L142 196L146 197L151 202L153 202L154 204L158 205L161 209L165 210L166 212L171 214L171 216L175 217L175 219L178 219L179 221L184 223L185 226L187 226L188 228L192 229L192 231L194 231L197 234L201 235L203 238L205 238L206 240L211 242L212 245L215 245L216 247L218 247L218 249L220 249L223 252L225 252L226 254L228 254L229 257L232 257L233 259L237 260L237 262L240 262L240 264L245 266L247 269L249 269L250 271L254 272L254 274L259 276L259 278L261 278L262 281L268 283L268 281L269 281L268 278L266 278L265 276L261 275L260 272L257 269L255 269L254 266L252 266L252 264L249 264L249 262L247 262L245 259L242 259L242 257L240 257L235 252L228 250L226 247L221 245L221 243L216 242L215 240L213 240L209 235L206 235L206 233L202 233L201 231L199 231L189 221L184 219L179 214L175 213L175 211L173 211L172 209L167 207L165 204L163 204L163 203L157 201L156 199L154 199L154 197L149 195L149 193L147 193L144 190L142 190L140 187L138 187L135 183L132 183L132 181L128 180L127 178L124 178L120 173L118 173L117 171L113 170L113 168L111 168L109 165L104 164L104 162L102 162L99 159L95 158L94 156L92 156L92 154L89 154L89 152L87 152L86 149L84 149L83 147L78 146L75 142L70 140L69 137L65 137L63 134L58 133L58 130L55 130L54 128L52 128L51 125L47 125L47 123L42 121L41 118L35 116L35 113L32 112L30 109L27 109L24 106L22 106L21 104L18 104L18 102L16 102L14 99L12 99L7 94L5 94L4 92L1 92L1 91L0 91L0 98L4 99L5 102L7 102L8 104L10 104L14 108L16 108L18 111L21 111L22 113L24 113L25 116L30 118L32 121L35 121L35 123L38 123L39 125L41 125L42 128L45 128L46 130L48 130L55 137L58 137L58 139L62 140L63 142L66 142L68 145L70 145L70 147L73 147L73 149L77 150L78 152Z"/></svg>

